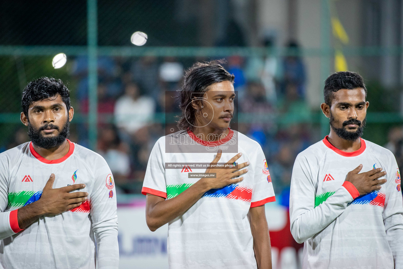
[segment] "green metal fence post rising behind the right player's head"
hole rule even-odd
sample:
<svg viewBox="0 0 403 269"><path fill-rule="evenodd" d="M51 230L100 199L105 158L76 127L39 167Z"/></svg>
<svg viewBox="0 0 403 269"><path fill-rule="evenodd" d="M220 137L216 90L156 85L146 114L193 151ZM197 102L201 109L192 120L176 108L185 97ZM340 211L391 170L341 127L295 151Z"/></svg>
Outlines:
<svg viewBox="0 0 403 269"><path fill-rule="evenodd" d="M330 7L329 1L322 0L322 12L320 15L320 45L322 57L320 58L320 86L323 89L324 81L330 75ZM324 138L329 133L329 121L324 115L320 120L320 133Z"/></svg>

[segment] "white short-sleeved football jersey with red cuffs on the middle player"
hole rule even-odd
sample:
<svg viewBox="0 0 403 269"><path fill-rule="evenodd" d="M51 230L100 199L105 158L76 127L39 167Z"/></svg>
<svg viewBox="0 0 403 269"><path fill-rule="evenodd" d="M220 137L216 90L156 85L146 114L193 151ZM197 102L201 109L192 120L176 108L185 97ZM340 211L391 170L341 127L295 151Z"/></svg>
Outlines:
<svg viewBox="0 0 403 269"><path fill-rule="evenodd" d="M206 192L183 215L168 224L169 267L256 269L247 213L251 207L275 201L262 148L258 142L231 129L226 138L217 142L200 140L189 131L185 132L185 138L194 142L196 147L204 147L204 153L181 152L180 147L175 153L166 153L166 141L175 140L179 133L183 131L162 137L154 145L145 173L143 194L167 199L181 194L200 179L189 178L189 173L206 171L206 168L199 169L192 164L211 163L218 148L223 149L219 163L226 163L242 152L236 163L249 161L250 165L247 167L249 171L241 175L243 181ZM225 152L226 145L234 145L232 142L236 140L238 151ZM206 152L206 147L212 147L210 153ZM185 164L169 169L169 163Z"/></svg>

